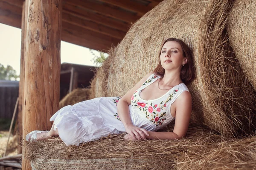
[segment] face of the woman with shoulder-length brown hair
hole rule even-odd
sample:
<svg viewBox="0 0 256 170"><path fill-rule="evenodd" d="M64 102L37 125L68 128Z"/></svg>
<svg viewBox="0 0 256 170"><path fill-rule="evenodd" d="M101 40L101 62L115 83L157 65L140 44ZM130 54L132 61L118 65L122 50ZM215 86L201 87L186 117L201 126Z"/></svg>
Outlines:
<svg viewBox="0 0 256 170"><path fill-rule="evenodd" d="M161 50L161 65L165 70L177 69L186 64L187 60L183 57L183 51L180 43L176 41L167 41Z"/></svg>

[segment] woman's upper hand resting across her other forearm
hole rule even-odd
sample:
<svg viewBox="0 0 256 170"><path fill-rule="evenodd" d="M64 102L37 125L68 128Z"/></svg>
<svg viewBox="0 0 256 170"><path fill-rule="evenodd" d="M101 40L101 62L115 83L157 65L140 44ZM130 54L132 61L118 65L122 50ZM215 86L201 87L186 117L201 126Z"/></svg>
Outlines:
<svg viewBox="0 0 256 170"><path fill-rule="evenodd" d="M132 139L139 140L139 139L146 139L145 135L149 135L148 132L140 127L135 127L132 124L125 126L125 131L128 133Z"/></svg>

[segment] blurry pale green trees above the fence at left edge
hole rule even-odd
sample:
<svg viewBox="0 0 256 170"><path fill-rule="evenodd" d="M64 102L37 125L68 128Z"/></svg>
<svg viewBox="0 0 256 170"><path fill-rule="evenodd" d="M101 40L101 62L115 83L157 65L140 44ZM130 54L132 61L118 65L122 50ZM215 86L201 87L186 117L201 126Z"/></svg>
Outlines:
<svg viewBox="0 0 256 170"><path fill-rule="evenodd" d="M16 70L12 66L6 67L0 63L0 80L16 80L19 76L16 74Z"/></svg>

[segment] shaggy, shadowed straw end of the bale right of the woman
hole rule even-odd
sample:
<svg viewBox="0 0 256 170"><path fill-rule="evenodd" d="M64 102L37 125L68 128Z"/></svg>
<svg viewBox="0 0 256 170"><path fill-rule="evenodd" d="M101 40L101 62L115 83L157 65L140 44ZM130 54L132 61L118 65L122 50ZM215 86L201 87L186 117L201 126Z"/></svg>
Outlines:
<svg viewBox="0 0 256 170"><path fill-rule="evenodd" d="M215 1L200 26L197 71L204 124L240 138L255 130L256 93L228 42L227 16L233 4Z"/></svg>

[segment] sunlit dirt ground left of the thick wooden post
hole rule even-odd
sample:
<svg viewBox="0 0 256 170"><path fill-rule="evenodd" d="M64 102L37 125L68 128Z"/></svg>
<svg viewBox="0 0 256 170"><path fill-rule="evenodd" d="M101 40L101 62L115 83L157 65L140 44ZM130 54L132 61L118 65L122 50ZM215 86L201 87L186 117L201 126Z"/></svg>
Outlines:
<svg viewBox="0 0 256 170"><path fill-rule="evenodd" d="M3 154L5 152L8 135L9 135L9 131L0 131L0 157L3 157ZM13 136L11 134L6 156L15 156L15 155L17 155L17 138L16 138L16 135Z"/></svg>

